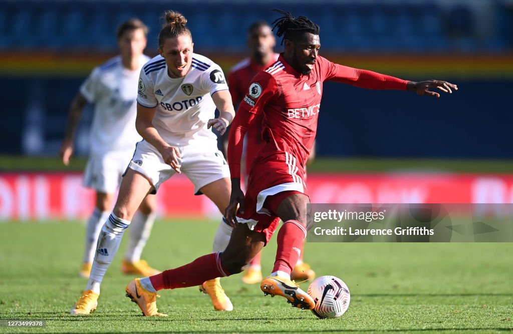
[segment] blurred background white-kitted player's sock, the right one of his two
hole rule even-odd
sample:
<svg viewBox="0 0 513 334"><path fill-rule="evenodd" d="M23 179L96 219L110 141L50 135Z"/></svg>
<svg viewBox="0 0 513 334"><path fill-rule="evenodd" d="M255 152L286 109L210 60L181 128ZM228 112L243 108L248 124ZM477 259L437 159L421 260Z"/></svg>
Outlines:
<svg viewBox="0 0 513 334"><path fill-rule="evenodd" d="M141 260L141 253L148 240L155 213L144 214L139 210L135 213L130 227L130 241L125 252L125 260L128 262L137 262Z"/></svg>

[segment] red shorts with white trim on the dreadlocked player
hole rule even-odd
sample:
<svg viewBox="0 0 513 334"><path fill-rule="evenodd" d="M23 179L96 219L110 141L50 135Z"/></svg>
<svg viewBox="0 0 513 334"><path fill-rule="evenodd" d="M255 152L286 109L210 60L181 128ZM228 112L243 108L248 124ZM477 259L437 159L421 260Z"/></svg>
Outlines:
<svg viewBox="0 0 513 334"><path fill-rule="evenodd" d="M237 214L240 223L247 223L253 231L264 233L266 242L280 223L276 214L280 203L294 193L308 196L303 180L304 169L293 166L289 160L285 154L273 155L251 166L244 214Z"/></svg>

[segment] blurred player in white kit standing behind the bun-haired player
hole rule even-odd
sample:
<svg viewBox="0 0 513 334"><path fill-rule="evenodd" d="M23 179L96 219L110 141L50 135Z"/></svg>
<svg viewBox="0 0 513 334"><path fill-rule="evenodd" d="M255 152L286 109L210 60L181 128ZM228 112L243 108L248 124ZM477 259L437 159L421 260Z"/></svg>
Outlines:
<svg viewBox="0 0 513 334"><path fill-rule="evenodd" d="M96 67L75 96L61 148L63 163L68 165L73 153L73 137L86 104L94 103L89 160L84 171L84 185L96 191L96 205L87 222L84 260L80 270L89 278L96 242L114 201L135 144L141 136L135 129L137 81L143 65L150 58L143 54L148 28L139 19L130 19L118 28L121 54ZM141 260L141 253L155 219L155 196L143 201L133 219L130 242L122 263L125 273L159 273Z"/></svg>

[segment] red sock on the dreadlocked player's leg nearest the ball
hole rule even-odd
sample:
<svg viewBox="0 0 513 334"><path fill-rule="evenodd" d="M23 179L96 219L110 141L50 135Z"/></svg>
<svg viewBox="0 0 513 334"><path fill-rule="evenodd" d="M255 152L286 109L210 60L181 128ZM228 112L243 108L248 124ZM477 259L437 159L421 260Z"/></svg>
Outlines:
<svg viewBox="0 0 513 334"><path fill-rule="evenodd" d="M283 223L278 231L278 250L272 272L284 271L290 274L303 252L303 244L306 238L306 227L295 220Z"/></svg>

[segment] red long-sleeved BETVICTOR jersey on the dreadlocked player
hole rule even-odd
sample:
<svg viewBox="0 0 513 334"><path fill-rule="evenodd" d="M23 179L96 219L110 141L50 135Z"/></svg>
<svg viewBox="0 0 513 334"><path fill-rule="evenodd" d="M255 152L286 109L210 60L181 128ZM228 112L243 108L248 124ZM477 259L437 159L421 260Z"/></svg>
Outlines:
<svg viewBox="0 0 513 334"><path fill-rule="evenodd" d="M277 62L253 78L235 115L228 145L232 178L240 178L246 124L260 114L264 116L262 136L266 144L253 163L280 154L294 157L294 164L304 170L317 132L323 82L327 80L371 89L404 90L407 84L396 77L334 64L321 56L310 74L304 75L280 54Z"/></svg>

